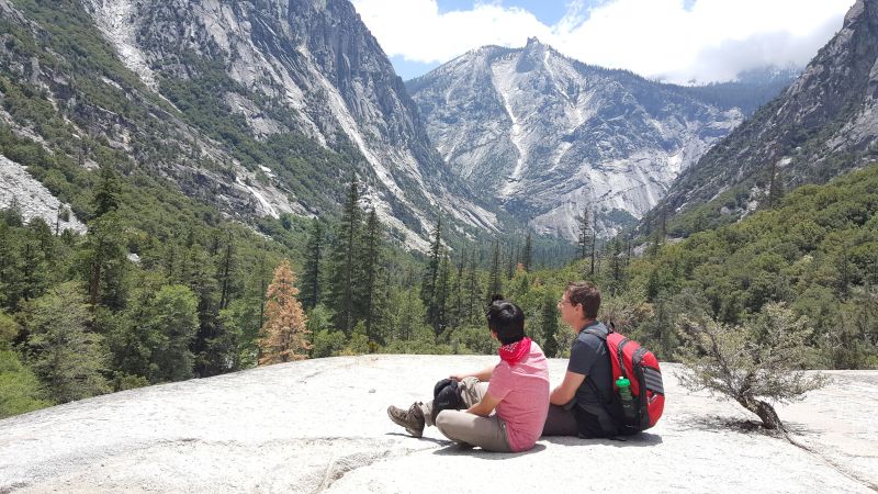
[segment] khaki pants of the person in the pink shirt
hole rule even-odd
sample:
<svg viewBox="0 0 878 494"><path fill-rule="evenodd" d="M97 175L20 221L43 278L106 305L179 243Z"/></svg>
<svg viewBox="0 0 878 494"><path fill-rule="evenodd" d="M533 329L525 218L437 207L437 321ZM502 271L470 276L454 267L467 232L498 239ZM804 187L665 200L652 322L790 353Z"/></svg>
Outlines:
<svg viewBox="0 0 878 494"><path fill-rule="evenodd" d="M485 396L487 383L479 382L475 378L465 378L458 384L461 390L461 401L469 408ZM462 445L477 446L488 451L511 452L506 438L506 423L496 414L480 417L464 411L444 409L436 417L432 424L432 402L420 405L426 424L435 425L446 437Z"/></svg>

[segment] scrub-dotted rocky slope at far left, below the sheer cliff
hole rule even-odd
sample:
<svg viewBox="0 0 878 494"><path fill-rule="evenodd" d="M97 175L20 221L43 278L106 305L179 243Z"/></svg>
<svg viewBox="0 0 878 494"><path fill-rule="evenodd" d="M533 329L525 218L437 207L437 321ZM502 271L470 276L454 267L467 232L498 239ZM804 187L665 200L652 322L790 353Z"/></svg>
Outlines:
<svg viewBox="0 0 878 494"><path fill-rule="evenodd" d="M50 155L64 153L90 169L98 166L91 144L100 141L140 169L170 179L187 194L232 215L305 213L281 188L256 181L255 171L235 162L222 143L187 122L160 94L127 72L80 5L64 4L50 20L40 16L45 12L45 5L0 0L0 78L4 82L0 126L18 138L38 143ZM80 59L48 48L54 42L72 46L70 52ZM131 49L120 54L128 61L136 61L136 55ZM121 162L119 157L113 160ZM25 210L56 201L42 194L25 204L36 195L22 190L0 192L5 200L14 195Z"/></svg>

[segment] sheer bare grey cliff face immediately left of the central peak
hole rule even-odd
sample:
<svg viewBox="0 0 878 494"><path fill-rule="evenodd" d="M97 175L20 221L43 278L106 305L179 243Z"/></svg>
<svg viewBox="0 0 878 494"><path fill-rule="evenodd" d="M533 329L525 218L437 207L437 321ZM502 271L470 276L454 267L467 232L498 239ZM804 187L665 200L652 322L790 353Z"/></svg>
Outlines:
<svg viewBox="0 0 878 494"><path fill-rule="evenodd" d="M219 70L234 82L223 89L227 110L251 135L301 133L359 160L367 201L409 244L424 244L437 207L462 225L496 227L431 148L402 80L349 2L90 0L87 7L125 65L155 91Z"/></svg>

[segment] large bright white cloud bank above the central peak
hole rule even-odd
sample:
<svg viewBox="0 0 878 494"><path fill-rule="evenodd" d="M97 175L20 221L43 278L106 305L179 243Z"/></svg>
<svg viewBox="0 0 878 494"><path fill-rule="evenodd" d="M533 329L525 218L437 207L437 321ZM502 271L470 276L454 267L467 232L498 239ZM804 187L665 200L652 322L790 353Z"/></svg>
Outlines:
<svg viewBox="0 0 878 494"><path fill-rule="evenodd" d="M854 0L606 0L545 25L530 12L436 0L353 0L389 56L444 63L480 46L537 36L578 60L672 81L728 80L764 65L803 66L841 29ZM688 4L688 9L687 9Z"/></svg>

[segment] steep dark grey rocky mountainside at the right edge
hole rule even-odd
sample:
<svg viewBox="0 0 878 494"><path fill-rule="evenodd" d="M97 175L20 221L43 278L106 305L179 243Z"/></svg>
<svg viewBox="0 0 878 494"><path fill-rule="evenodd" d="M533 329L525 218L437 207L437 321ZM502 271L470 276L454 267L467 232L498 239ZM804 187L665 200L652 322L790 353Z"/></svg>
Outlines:
<svg viewBox="0 0 878 494"><path fill-rule="evenodd" d="M876 97L878 1L858 0L783 94L680 175L643 229L660 215L672 235L732 222L783 190L878 159Z"/></svg>

